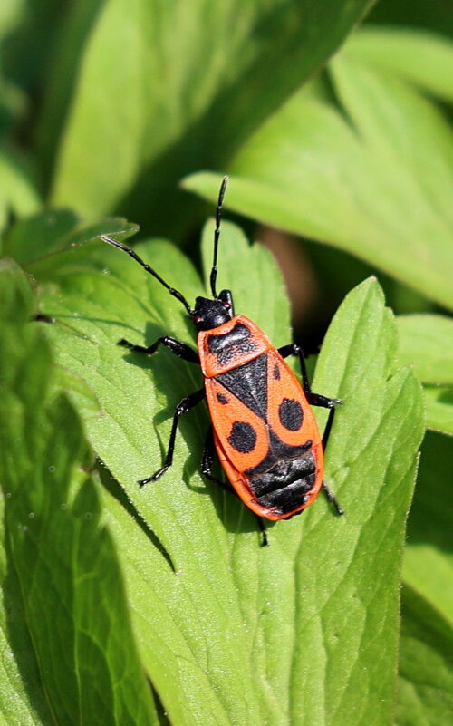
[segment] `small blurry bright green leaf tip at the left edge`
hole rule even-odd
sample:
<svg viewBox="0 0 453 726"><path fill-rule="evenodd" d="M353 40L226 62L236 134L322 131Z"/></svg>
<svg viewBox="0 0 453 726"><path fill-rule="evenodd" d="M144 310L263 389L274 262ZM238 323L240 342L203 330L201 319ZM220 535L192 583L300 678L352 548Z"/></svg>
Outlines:
<svg viewBox="0 0 453 726"><path fill-rule="evenodd" d="M5 227L10 212L32 214L40 204L24 164L9 151L0 149L0 229Z"/></svg>

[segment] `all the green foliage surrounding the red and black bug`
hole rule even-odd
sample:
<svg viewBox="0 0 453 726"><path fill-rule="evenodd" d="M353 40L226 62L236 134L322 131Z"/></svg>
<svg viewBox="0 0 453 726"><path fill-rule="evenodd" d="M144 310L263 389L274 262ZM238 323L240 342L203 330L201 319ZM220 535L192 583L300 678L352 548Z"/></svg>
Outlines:
<svg viewBox="0 0 453 726"><path fill-rule="evenodd" d="M0 723L448 721L452 20L440 0L2 4ZM313 389L344 400L345 517L320 497L266 548L198 474L204 406L137 487L202 382L115 345L195 338L99 239L192 301L226 172L219 286L289 342L265 240L297 340L323 342Z"/></svg>

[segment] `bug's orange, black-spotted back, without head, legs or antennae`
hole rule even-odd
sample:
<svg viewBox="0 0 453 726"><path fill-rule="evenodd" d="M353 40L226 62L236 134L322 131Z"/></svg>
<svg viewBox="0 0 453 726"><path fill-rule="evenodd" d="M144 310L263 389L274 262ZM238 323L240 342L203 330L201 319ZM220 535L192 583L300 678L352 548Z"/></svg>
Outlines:
<svg viewBox="0 0 453 726"><path fill-rule="evenodd" d="M255 514L289 518L323 482L320 433L300 382L244 315L198 334L220 463Z"/></svg>

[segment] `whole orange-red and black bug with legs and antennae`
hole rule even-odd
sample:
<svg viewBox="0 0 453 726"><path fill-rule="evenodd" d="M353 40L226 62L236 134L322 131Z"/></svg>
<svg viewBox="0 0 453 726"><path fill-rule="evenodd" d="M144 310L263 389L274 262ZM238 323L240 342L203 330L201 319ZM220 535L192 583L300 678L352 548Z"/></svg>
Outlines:
<svg viewBox="0 0 453 726"><path fill-rule="evenodd" d="M140 486L156 481L169 469L180 417L207 398L211 425L201 461L201 471L207 479L226 486L212 473L213 454L217 450L236 494L258 518L289 519L307 508L322 488L338 514L342 514L323 480L323 450L332 429L334 407L342 401L313 393L299 345L275 349L255 323L244 315L235 315L229 290L217 295L217 249L226 182L227 177L217 202L210 275L213 299L199 296L193 309L184 295L170 287L132 249L111 237L101 237L127 252L156 277L184 305L198 329L198 353L169 335L148 347L119 341L131 351L149 354L165 345L179 358L201 365L205 377L205 387L176 407L163 467L148 479L141 479ZM284 362L288 355L299 357L303 385ZM329 409L323 438L310 404Z"/></svg>

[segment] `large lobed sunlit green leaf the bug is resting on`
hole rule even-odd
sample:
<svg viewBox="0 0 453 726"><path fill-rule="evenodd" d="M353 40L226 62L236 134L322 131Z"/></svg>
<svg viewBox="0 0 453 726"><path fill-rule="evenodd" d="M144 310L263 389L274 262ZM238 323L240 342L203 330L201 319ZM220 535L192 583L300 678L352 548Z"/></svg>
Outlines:
<svg viewBox="0 0 453 726"><path fill-rule="evenodd" d="M156 240L136 250L190 303L203 294L176 248ZM172 334L194 345L193 329L182 305L119 250L100 248L84 263L43 286L43 312L56 321L45 331L59 363L101 403L88 435L123 488L107 482L102 508L121 543L141 658L169 720L390 726L404 522L423 422L418 382L395 368L394 323L376 282L342 305L313 384L345 400L327 478L347 513L335 517L320 498L303 517L269 526L263 548L250 512L198 474L204 406L181 421L172 468L138 487L161 465L176 403L202 379L167 350L143 358L115 343ZM237 288L236 310L276 344L290 341L272 259L230 225L218 283Z"/></svg>

